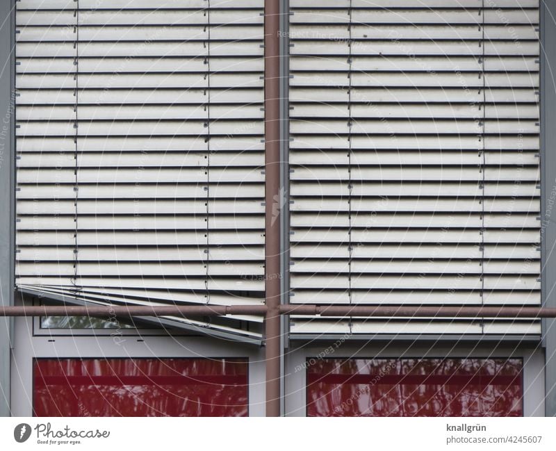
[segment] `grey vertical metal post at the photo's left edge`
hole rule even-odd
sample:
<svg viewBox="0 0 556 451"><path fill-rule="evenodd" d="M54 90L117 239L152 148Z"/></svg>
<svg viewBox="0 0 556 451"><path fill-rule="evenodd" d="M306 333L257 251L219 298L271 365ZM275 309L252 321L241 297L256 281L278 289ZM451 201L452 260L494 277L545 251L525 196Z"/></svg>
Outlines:
<svg viewBox="0 0 556 451"><path fill-rule="evenodd" d="M13 1L0 2L0 306L13 305L15 60ZM11 318L0 318L0 416L10 416Z"/></svg>

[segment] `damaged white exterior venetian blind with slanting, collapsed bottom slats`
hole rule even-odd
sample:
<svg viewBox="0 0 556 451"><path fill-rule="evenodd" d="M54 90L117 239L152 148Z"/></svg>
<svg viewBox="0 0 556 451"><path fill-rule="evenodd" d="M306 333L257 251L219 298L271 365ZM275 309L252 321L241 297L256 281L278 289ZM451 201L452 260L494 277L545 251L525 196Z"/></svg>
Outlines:
<svg viewBox="0 0 556 451"><path fill-rule="evenodd" d="M20 289L263 303L262 14L263 0L17 2ZM255 316L170 319L261 336Z"/></svg>

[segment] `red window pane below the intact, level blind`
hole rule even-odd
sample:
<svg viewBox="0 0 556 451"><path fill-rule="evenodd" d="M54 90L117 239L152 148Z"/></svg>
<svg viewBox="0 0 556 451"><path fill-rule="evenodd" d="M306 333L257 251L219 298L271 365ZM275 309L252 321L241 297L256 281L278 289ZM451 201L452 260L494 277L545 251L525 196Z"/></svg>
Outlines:
<svg viewBox="0 0 556 451"><path fill-rule="evenodd" d="M308 416L523 416L521 359L309 359Z"/></svg>

